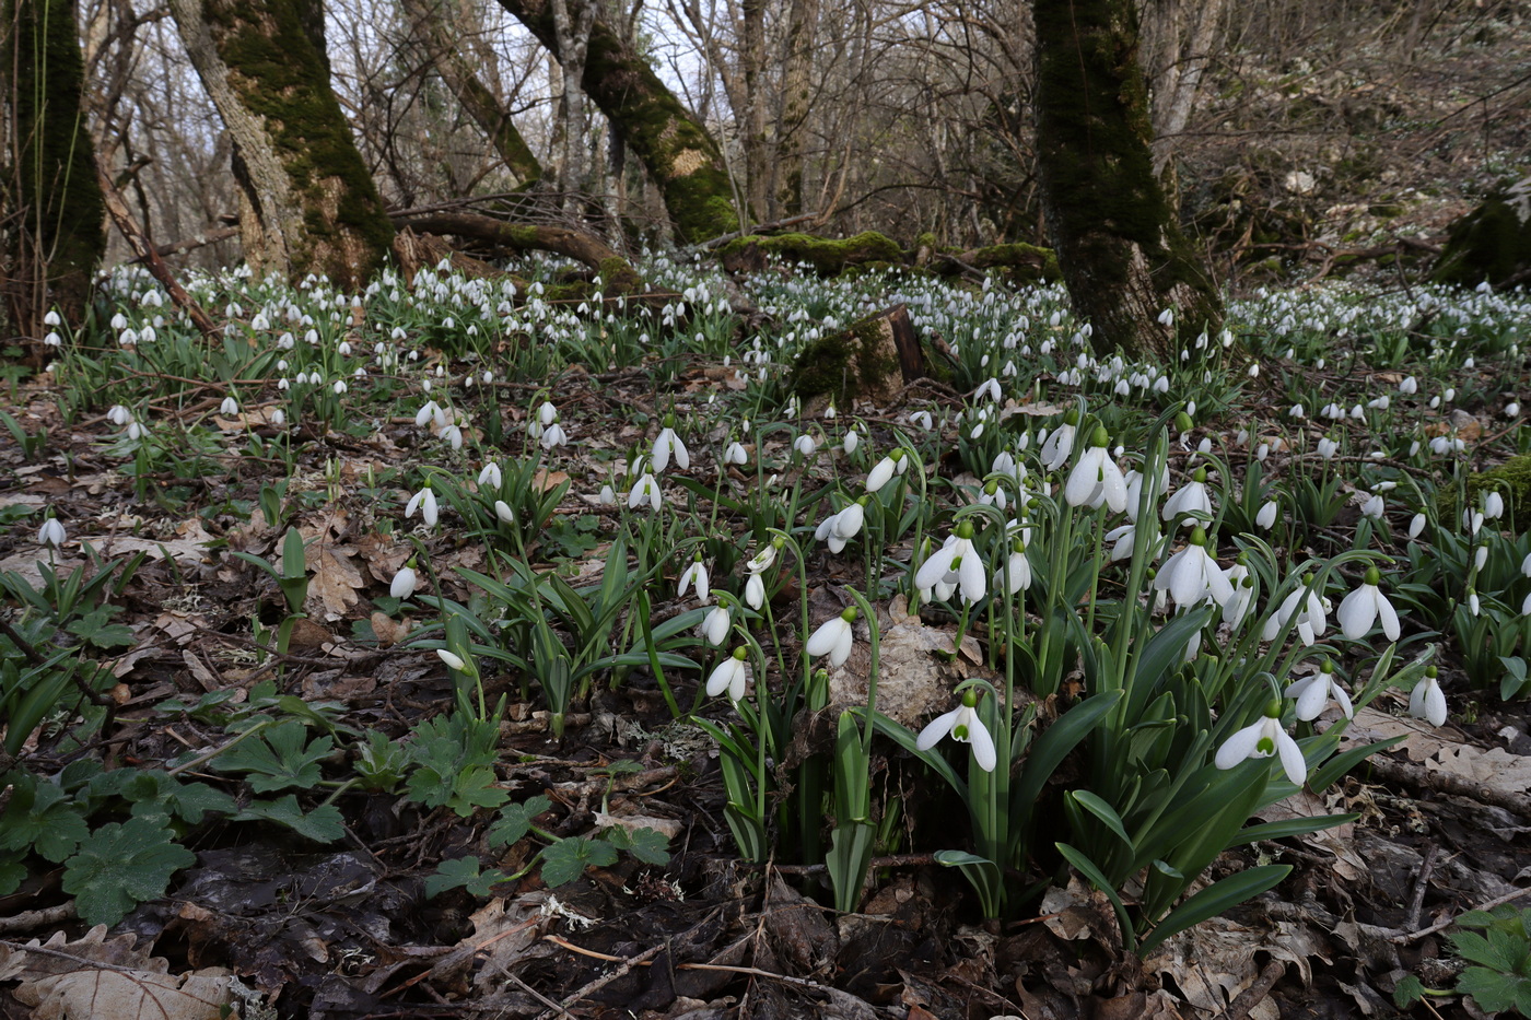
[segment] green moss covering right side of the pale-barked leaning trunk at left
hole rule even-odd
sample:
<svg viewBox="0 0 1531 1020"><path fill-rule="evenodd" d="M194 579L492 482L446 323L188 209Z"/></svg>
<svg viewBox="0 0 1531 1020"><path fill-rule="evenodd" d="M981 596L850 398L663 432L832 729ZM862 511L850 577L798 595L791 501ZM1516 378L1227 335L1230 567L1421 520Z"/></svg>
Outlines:
<svg viewBox="0 0 1531 1020"><path fill-rule="evenodd" d="M341 286L358 286L381 263L393 225L331 89L328 63L305 28L317 6L204 0L202 12L230 86L265 119L302 202L306 250L291 253L292 273L328 273Z"/></svg>

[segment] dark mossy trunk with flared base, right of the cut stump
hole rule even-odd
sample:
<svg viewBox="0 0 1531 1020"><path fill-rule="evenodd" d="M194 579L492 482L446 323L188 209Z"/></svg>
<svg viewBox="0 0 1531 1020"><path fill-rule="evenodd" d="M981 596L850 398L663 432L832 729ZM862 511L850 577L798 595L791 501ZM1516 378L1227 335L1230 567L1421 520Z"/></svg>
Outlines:
<svg viewBox="0 0 1531 1020"><path fill-rule="evenodd" d="M1177 328L1220 328L1222 299L1153 172L1136 3L1032 0L1032 12L1040 196L1075 311L1098 351L1173 354Z"/></svg>

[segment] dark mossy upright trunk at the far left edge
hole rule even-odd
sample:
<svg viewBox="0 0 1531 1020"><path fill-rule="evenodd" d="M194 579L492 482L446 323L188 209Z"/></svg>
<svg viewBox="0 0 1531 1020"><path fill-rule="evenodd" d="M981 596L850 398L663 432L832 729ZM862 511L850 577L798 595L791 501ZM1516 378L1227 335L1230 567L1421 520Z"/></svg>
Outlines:
<svg viewBox="0 0 1531 1020"><path fill-rule="evenodd" d="M0 11L6 149L0 155L0 282L6 314L43 334L49 306L78 322L106 251L106 207L81 115L84 64L69 0L9 0Z"/></svg>

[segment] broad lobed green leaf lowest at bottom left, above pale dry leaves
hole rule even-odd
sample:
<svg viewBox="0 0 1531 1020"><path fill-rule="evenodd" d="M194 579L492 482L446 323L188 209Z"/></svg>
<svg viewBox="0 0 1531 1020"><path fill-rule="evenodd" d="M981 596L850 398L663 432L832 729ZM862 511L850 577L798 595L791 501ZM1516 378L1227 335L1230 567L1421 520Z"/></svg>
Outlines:
<svg viewBox="0 0 1531 1020"><path fill-rule="evenodd" d="M107 822L64 864L64 891L89 925L115 925L138 904L165 894L170 876L196 864L155 819Z"/></svg>

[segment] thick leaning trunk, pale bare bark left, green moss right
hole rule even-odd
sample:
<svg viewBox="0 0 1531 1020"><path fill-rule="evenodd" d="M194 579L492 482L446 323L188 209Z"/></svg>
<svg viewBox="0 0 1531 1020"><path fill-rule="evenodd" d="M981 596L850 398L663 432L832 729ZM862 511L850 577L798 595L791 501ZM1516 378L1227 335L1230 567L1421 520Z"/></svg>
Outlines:
<svg viewBox="0 0 1531 1020"><path fill-rule="evenodd" d="M251 268L361 286L393 225L315 44L320 0L170 0L170 9L234 144Z"/></svg>

